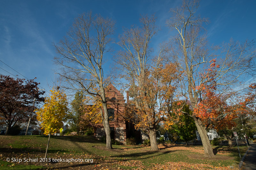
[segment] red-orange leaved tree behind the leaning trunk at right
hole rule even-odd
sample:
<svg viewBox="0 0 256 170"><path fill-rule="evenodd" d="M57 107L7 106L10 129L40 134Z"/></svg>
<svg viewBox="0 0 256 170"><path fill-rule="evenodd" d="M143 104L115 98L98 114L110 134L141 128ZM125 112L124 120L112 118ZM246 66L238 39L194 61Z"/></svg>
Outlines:
<svg viewBox="0 0 256 170"><path fill-rule="evenodd" d="M246 115L249 109L246 106L252 107L252 103L255 102L255 94L251 92L240 97L231 90L225 94L219 93L215 81L219 65L216 66L215 62L215 59L211 60L210 67L201 74L208 81L196 87L196 90L200 90L200 99L193 116L200 119L206 130L208 128L215 129L225 135L229 147L232 147L234 135L230 133L230 130L236 127L236 118L239 115ZM253 91L253 85L251 85L251 91Z"/></svg>

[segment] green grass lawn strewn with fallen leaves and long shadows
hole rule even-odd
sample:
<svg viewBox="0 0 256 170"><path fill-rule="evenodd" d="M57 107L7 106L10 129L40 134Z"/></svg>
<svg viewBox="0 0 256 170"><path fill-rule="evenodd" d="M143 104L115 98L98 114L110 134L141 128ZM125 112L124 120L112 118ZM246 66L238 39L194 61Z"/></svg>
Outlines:
<svg viewBox="0 0 256 170"><path fill-rule="evenodd" d="M113 150L107 150L104 143L92 136L51 136L47 154L51 158L49 162L49 159L42 159L47 141L48 136L0 136L0 169L208 170L230 169L229 166L236 169L240 161L237 147L212 146L216 156L207 159L204 158L203 146L199 145L159 145L158 152L143 145L113 145ZM243 156L247 146L239 149Z"/></svg>

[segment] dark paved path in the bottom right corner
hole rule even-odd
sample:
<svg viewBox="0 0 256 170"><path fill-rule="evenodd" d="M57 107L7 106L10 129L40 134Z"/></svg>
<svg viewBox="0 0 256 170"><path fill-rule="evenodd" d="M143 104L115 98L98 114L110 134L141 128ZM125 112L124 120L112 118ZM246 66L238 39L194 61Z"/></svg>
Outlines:
<svg viewBox="0 0 256 170"><path fill-rule="evenodd" d="M241 170L256 170L256 144L250 144L252 147L244 158L244 164Z"/></svg>

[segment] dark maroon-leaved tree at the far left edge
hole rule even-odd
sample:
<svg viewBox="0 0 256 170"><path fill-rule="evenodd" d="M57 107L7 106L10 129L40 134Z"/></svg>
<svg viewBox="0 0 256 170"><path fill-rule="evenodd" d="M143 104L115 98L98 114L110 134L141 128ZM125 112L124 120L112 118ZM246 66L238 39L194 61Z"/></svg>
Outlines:
<svg viewBox="0 0 256 170"><path fill-rule="evenodd" d="M39 91L39 83L33 80L0 75L0 117L7 125L6 135L10 129L19 123L28 121L28 115L35 110L35 104L44 101L41 95L44 91Z"/></svg>

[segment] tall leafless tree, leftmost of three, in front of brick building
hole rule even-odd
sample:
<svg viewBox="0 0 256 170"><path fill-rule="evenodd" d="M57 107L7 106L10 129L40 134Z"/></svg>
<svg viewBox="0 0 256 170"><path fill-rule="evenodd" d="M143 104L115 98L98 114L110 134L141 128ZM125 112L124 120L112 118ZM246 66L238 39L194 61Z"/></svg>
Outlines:
<svg viewBox="0 0 256 170"><path fill-rule="evenodd" d="M110 77L104 72L104 62L110 51L114 21L91 12L75 19L72 28L58 44L55 62L60 66L60 76L65 79L65 87L79 90L85 96L100 101L100 115L106 132L106 148L112 149L105 88Z"/></svg>

